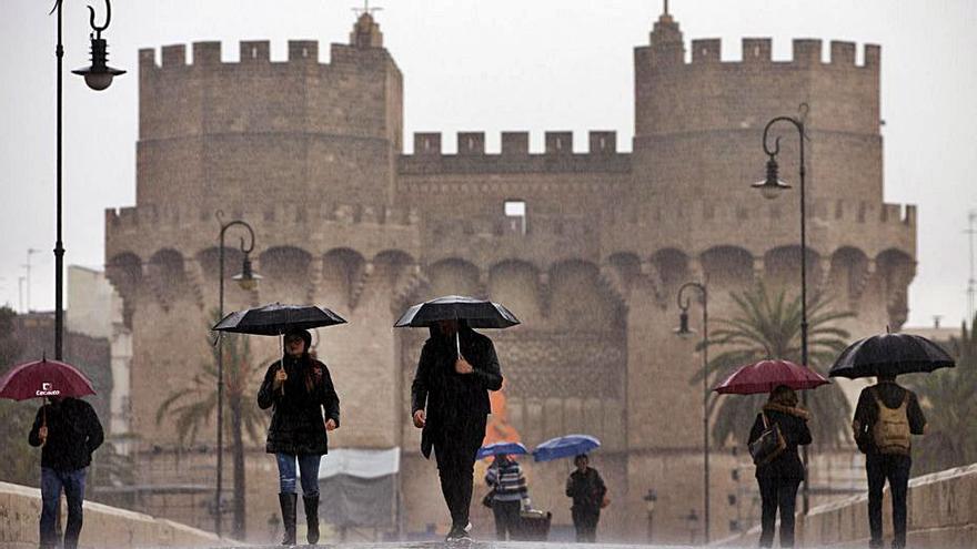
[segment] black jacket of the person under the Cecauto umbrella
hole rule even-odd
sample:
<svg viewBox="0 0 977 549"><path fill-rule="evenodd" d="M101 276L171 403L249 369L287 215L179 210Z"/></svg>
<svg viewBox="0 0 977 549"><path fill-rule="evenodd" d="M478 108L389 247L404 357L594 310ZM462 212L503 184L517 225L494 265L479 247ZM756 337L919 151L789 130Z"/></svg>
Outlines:
<svg viewBox="0 0 977 549"><path fill-rule="evenodd" d="M105 438L94 408L78 398L46 404L38 410L28 436L31 446L41 445L39 433L44 421L48 440L41 449L41 467L59 471L83 469L91 464L91 454Z"/></svg>

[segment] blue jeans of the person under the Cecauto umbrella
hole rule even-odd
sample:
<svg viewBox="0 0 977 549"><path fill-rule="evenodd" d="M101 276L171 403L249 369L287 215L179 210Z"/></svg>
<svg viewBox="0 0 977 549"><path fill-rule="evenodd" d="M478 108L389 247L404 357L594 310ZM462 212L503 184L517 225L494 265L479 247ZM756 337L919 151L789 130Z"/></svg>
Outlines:
<svg viewBox="0 0 977 549"><path fill-rule="evenodd" d="M61 490L68 498L68 522L64 525L64 549L78 547L78 536L81 533L82 511L81 502L84 500L84 476L88 469L73 471L59 471L48 467L41 467L41 523L40 541L42 548L58 545L58 531L54 522L58 517L58 505L61 501Z"/></svg>

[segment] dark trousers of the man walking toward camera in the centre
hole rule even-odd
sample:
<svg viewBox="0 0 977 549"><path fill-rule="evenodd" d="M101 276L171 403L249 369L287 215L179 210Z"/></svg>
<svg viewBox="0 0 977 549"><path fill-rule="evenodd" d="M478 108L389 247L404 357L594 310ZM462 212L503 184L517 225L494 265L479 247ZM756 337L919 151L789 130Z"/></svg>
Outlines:
<svg viewBox="0 0 977 549"><path fill-rule="evenodd" d="M434 459L441 477L441 492L451 514L453 529L469 525L472 487L475 479L475 454L485 436L485 418L469 421L464 430L444 433L434 443ZM480 427L481 425L481 427Z"/></svg>

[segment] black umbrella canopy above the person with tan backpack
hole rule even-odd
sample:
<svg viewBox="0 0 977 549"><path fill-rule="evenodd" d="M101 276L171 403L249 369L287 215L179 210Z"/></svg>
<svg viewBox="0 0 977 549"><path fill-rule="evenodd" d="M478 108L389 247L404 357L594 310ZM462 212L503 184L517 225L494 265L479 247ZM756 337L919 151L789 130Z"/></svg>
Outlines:
<svg viewBox="0 0 977 549"><path fill-rule="evenodd" d="M923 336L883 334L853 343L838 356L828 376L877 377L953 368L954 359Z"/></svg>

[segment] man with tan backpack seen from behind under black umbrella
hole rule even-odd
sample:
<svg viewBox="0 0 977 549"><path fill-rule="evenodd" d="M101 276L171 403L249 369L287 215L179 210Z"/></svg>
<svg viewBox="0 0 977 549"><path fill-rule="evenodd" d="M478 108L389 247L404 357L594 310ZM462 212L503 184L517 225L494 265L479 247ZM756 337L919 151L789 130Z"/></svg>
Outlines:
<svg viewBox="0 0 977 549"><path fill-rule="evenodd" d="M888 479L893 491L893 549L906 547L906 492L909 485L909 436L923 435L926 417L911 390L896 384L895 376L879 377L858 396L852 430L865 453L868 476L869 547L880 548L882 490Z"/></svg>

